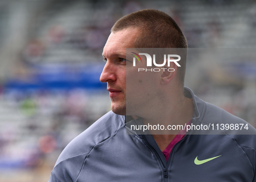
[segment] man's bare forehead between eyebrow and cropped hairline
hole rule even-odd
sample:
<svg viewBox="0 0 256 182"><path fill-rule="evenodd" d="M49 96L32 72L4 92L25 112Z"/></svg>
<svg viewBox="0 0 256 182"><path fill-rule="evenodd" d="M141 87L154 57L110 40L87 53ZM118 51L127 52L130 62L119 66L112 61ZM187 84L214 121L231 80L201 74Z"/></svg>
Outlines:
<svg viewBox="0 0 256 182"><path fill-rule="evenodd" d="M134 28L128 28L114 33L112 32L107 39L102 54L106 58L123 54L125 56L126 48L133 47L133 42L138 34L139 31Z"/></svg>

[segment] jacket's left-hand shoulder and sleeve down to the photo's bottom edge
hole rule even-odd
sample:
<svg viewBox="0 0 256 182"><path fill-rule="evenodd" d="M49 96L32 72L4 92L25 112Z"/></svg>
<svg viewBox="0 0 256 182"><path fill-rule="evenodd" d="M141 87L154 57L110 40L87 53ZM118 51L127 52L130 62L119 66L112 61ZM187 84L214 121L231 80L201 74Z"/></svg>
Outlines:
<svg viewBox="0 0 256 182"><path fill-rule="evenodd" d="M110 111L73 139L58 157L49 182L76 181L87 155L97 144L124 127L124 121L125 116Z"/></svg>

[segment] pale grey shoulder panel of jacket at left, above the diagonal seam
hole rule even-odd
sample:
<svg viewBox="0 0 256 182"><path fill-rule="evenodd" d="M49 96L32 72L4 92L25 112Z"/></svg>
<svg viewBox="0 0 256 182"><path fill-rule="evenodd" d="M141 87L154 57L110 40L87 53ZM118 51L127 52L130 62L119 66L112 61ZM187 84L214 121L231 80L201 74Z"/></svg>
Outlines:
<svg viewBox="0 0 256 182"><path fill-rule="evenodd" d="M108 112L65 147L55 166L68 158L90 152L95 145L114 135L120 127L124 127L124 121L124 116Z"/></svg>

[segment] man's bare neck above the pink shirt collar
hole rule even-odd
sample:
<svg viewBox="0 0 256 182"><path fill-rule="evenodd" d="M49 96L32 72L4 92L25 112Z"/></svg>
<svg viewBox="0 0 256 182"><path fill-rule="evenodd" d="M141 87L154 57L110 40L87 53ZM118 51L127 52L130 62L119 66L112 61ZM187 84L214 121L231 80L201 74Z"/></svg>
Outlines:
<svg viewBox="0 0 256 182"><path fill-rule="evenodd" d="M158 102L155 104L157 107L147 107L148 112L143 116L144 125L163 125L165 129L169 125L177 126L185 124L192 118L194 111L193 100L183 95L182 91L165 91L162 93L173 94L161 94L157 98ZM156 99L155 99L156 100ZM153 109L152 109L153 108ZM133 116L134 119L138 118ZM161 151L171 143L172 139L178 134L180 129L177 130L151 130L149 132L154 137Z"/></svg>

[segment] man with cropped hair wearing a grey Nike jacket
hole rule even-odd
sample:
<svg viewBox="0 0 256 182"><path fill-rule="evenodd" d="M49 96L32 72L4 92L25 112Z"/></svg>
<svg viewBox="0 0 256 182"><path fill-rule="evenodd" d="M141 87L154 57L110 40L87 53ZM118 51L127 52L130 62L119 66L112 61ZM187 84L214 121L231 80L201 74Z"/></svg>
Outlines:
<svg viewBox="0 0 256 182"><path fill-rule="evenodd" d="M126 48L163 47L183 49L180 66L169 60L159 72L145 75L127 59ZM183 87L186 48L178 25L161 11L144 9L118 20L103 50L106 65L100 76L101 82L107 82L112 111L68 144L49 181L256 181L255 135L231 135L236 133L216 130L215 125L247 123ZM146 66L145 57L141 61ZM126 83L126 78L131 82ZM134 91L138 97L131 94ZM214 135L201 135L205 134L202 129L195 133L180 129L178 135L132 129L133 124L158 121L164 127L213 126L210 134ZM256 134L251 127L249 131Z"/></svg>

